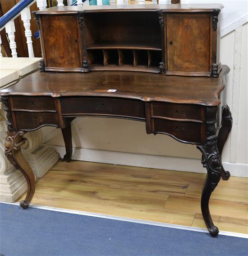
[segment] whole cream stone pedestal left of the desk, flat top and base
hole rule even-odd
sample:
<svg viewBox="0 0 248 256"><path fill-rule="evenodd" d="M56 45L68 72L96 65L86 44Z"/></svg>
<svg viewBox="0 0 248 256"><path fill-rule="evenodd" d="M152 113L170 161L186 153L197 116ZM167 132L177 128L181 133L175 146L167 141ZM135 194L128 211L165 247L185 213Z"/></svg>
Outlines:
<svg viewBox="0 0 248 256"><path fill-rule="evenodd" d="M19 78L39 68L41 58L1 58L0 89L16 83ZM27 190L22 173L15 169L5 157L7 135L6 115L0 101L0 201L14 202ZM22 152L37 178L42 177L58 160L55 149L42 145L42 132L28 132Z"/></svg>

